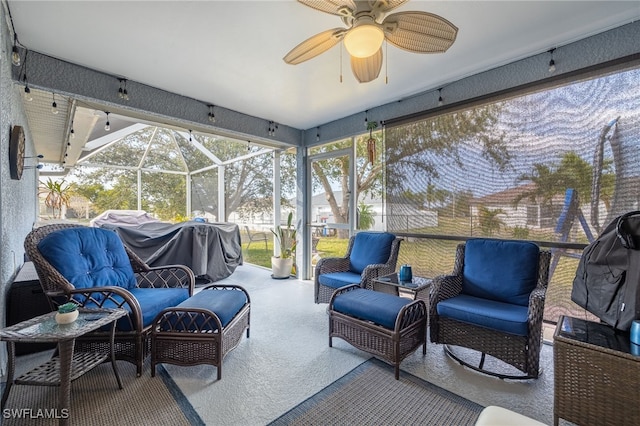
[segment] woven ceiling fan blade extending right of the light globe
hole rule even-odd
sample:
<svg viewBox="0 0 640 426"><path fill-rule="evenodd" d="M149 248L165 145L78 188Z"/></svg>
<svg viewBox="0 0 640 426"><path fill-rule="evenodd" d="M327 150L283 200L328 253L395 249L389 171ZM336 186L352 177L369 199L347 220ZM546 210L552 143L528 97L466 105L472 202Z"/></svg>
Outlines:
<svg viewBox="0 0 640 426"><path fill-rule="evenodd" d="M387 41L414 53L445 52L458 35L458 27L427 12L399 12L387 16L382 27Z"/></svg>

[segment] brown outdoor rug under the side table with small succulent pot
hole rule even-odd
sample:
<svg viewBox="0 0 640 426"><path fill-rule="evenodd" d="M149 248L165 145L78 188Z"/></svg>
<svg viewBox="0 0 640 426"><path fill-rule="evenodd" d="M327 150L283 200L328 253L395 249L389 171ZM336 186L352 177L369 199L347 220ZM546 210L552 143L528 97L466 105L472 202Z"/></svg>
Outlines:
<svg viewBox="0 0 640 426"><path fill-rule="evenodd" d="M133 364L118 362L122 390L118 389L111 363L101 364L73 381L69 424L204 425L166 370L159 366L152 378L146 367L142 376L136 378ZM14 385L3 408L2 421L6 426L53 426L65 415L58 409L57 386Z"/></svg>

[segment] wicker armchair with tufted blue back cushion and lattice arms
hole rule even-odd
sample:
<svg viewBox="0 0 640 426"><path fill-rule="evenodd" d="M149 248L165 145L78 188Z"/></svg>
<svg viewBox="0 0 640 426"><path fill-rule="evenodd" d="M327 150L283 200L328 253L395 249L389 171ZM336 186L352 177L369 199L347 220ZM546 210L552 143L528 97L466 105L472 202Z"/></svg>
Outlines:
<svg viewBox="0 0 640 426"><path fill-rule="evenodd" d="M149 355L149 335L156 315L193 295L195 277L186 266L151 268L110 230L54 224L31 231L25 251L38 273L52 309L69 300L86 308L123 308L117 323L116 358L136 365ZM76 350L108 349L110 333L89 333Z"/></svg>

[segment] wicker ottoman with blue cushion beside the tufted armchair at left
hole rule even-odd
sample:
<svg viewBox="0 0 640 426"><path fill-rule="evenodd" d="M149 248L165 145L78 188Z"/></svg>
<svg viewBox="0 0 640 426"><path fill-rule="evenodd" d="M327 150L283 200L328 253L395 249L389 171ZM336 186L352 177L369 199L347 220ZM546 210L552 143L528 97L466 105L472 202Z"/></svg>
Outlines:
<svg viewBox="0 0 640 426"><path fill-rule="evenodd" d="M222 377L222 360L249 338L249 293L235 285L210 285L160 312L151 329L151 376L159 363L211 364Z"/></svg>

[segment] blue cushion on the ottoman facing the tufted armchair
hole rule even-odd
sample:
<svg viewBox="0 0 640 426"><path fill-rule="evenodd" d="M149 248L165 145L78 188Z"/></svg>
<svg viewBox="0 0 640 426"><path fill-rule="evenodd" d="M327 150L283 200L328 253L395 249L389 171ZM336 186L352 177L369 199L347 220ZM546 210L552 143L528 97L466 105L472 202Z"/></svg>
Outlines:
<svg viewBox="0 0 640 426"><path fill-rule="evenodd" d="M202 290L180 303L178 307L208 309L220 318L222 327L226 327L246 304L247 296L243 291ZM213 323L210 324L214 325ZM217 327L212 327L211 331L216 329Z"/></svg>

